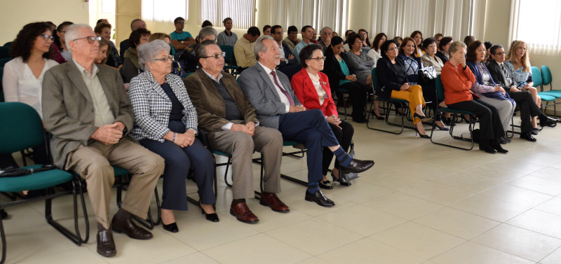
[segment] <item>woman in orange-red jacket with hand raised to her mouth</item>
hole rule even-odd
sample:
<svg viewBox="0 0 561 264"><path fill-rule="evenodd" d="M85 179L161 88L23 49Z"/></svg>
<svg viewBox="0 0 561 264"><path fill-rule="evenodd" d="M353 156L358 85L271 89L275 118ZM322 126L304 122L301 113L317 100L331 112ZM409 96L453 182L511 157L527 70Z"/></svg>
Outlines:
<svg viewBox="0 0 561 264"><path fill-rule="evenodd" d="M455 41L448 48L450 60L442 67L442 85L444 86L444 102L448 108L471 111L479 118L481 142L479 149L487 153L507 153L501 147L499 137L504 135L499 110L483 102L471 92L471 85L477 80L466 66L466 44Z"/></svg>

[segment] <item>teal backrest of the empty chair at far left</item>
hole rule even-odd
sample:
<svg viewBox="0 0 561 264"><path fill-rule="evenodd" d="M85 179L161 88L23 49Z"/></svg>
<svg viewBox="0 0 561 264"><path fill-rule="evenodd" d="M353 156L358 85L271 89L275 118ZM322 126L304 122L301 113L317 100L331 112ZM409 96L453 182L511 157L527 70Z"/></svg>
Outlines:
<svg viewBox="0 0 561 264"><path fill-rule="evenodd" d="M45 133L39 113L20 102L0 103L0 153L14 153L43 144Z"/></svg>

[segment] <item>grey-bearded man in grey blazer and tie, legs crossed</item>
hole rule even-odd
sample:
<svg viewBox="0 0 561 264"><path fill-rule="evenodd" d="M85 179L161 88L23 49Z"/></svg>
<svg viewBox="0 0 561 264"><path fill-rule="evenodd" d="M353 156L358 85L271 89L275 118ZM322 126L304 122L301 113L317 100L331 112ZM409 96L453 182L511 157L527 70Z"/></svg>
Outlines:
<svg viewBox="0 0 561 264"><path fill-rule="evenodd" d="M245 96L257 110L257 118L265 127L273 127L283 134L283 139L297 141L308 148L308 190L305 199L323 207L332 207L319 189L323 180L321 169L323 147L329 148L346 171L363 172L370 169L372 160L351 158L337 142L322 111L306 111L300 104L290 81L276 71L280 63L277 43L271 36L261 36L255 42L257 64L241 74L239 81Z"/></svg>

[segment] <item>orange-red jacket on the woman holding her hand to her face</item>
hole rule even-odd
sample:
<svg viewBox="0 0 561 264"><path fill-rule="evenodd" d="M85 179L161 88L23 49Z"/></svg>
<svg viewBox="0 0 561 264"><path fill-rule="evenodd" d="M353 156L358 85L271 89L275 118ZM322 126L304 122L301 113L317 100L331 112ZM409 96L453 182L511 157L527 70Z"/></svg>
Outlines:
<svg viewBox="0 0 561 264"><path fill-rule="evenodd" d="M444 67L442 67L440 79L444 86L445 104L471 101L473 97L479 98L471 92L471 85L473 85L476 80L469 67L462 69L461 64L458 64L458 67L454 67L450 61L448 61L444 64Z"/></svg>

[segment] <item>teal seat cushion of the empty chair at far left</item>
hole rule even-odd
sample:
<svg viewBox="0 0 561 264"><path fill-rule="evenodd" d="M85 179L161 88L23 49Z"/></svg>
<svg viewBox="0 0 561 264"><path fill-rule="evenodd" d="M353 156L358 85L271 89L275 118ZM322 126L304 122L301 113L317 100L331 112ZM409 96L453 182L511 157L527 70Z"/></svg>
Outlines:
<svg viewBox="0 0 561 264"><path fill-rule="evenodd" d="M41 165L20 167L20 169L39 169ZM72 181L72 174L62 169L50 169L15 177L0 178L0 192L15 193L22 190L41 190L61 183Z"/></svg>

